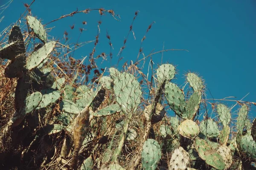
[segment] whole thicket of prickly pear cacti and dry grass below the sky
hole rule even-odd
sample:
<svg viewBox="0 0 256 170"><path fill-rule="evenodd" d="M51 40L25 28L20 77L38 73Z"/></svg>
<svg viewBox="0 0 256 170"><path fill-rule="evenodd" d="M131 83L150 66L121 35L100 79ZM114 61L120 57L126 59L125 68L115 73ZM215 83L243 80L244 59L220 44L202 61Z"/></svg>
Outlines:
<svg viewBox="0 0 256 170"><path fill-rule="evenodd" d="M0 59L6 61L0 79L12 89L4 98L11 107L0 109L9 115L0 122L0 169L235 170L255 165L253 102L237 101L235 121L226 104L208 108L198 74L187 73L187 83L179 87L174 65L152 69L150 80L133 62L123 70L100 72L93 54L87 66L72 57L59 62L58 51L66 45L47 39L46 25L35 17L28 15L26 21L29 31L12 26L8 44L0 47ZM31 38L39 45L29 44ZM71 67L70 62L79 64ZM8 164L11 158L17 163Z"/></svg>

